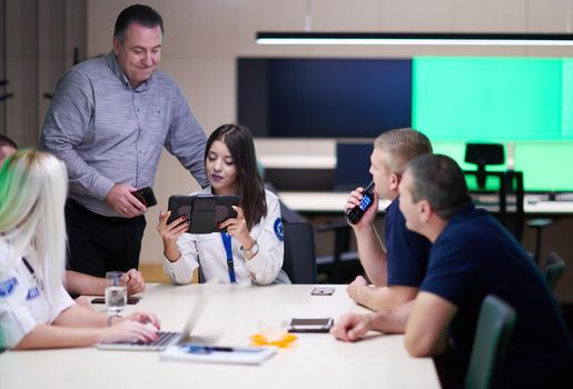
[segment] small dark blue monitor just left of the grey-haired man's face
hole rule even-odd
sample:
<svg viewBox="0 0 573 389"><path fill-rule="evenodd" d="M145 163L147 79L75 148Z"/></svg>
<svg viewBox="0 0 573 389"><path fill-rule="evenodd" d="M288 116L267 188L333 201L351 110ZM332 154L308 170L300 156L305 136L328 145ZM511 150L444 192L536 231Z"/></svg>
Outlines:
<svg viewBox="0 0 573 389"><path fill-rule="evenodd" d="M349 191L357 187L366 188L372 181L369 143L337 143L334 189Z"/></svg>

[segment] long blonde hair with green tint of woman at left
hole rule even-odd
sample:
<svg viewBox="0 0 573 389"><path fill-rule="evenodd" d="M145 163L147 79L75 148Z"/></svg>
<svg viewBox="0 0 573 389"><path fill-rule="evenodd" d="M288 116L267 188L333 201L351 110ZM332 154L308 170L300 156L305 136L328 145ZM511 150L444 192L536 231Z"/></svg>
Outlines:
<svg viewBox="0 0 573 389"><path fill-rule="evenodd" d="M36 250L32 267L48 297L63 279L67 191L66 166L48 152L18 151L0 169L0 239L10 247L8 267Z"/></svg>

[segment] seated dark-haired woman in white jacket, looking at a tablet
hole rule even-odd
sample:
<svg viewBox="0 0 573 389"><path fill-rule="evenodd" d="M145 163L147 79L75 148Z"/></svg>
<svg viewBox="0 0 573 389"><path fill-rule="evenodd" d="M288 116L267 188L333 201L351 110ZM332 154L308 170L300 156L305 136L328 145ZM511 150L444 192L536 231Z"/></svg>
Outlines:
<svg viewBox="0 0 573 389"><path fill-rule="evenodd" d="M157 230L164 241L164 271L171 282L190 282L199 268L206 281L290 283L281 270L278 198L263 184L250 131L237 124L216 129L207 140L205 170L210 186L195 194L238 196L239 206L233 206L236 217L219 223L220 232L189 233L192 218L168 222L174 210L160 213Z"/></svg>

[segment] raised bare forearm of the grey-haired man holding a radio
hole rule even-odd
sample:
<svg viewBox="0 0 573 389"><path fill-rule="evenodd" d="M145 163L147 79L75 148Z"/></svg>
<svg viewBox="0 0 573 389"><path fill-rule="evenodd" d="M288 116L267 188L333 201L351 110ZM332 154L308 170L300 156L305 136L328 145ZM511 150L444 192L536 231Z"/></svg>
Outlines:
<svg viewBox="0 0 573 389"><path fill-rule="evenodd" d="M366 275L376 287L385 287L387 282L386 252L373 225L355 231L360 263Z"/></svg>

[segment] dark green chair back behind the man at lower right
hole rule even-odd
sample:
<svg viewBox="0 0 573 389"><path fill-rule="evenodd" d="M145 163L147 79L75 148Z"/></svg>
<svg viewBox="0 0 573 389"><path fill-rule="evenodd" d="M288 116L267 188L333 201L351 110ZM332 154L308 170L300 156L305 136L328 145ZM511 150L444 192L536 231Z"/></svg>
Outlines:
<svg viewBox="0 0 573 389"><path fill-rule="evenodd" d="M501 367L515 326L515 310L493 295L485 297L480 309L466 389L495 388L500 383Z"/></svg>

